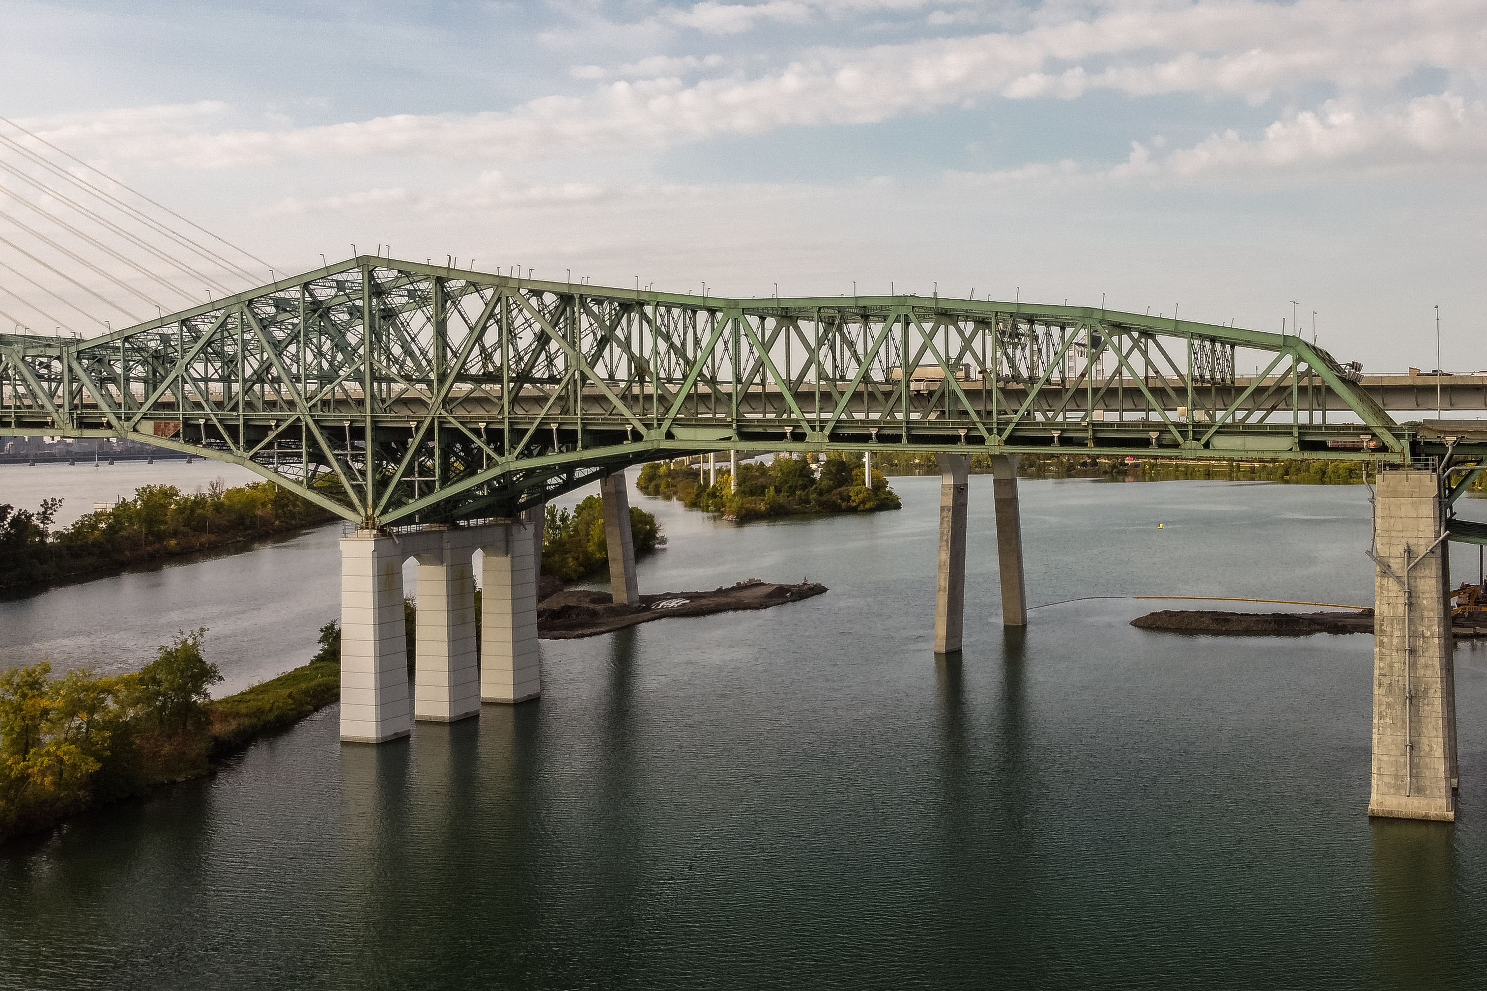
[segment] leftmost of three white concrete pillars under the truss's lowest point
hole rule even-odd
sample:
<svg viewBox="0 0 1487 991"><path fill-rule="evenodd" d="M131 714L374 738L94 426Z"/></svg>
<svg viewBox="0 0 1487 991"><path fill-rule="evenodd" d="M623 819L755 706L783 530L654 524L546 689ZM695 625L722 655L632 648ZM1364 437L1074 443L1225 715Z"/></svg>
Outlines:
<svg viewBox="0 0 1487 991"><path fill-rule="evenodd" d="M342 740L382 743L407 735L406 643L401 550L376 530L342 538Z"/></svg>

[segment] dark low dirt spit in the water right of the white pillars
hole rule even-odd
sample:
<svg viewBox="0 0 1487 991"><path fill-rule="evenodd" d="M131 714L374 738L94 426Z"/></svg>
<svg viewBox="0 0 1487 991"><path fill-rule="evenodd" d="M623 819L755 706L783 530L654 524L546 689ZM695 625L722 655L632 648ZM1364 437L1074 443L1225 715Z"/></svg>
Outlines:
<svg viewBox="0 0 1487 991"><path fill-rule="evenodd" d="M785 602L800 602L819 596L825 585L801 581L779 585L760 578L748 578L736 585L721 585L712 591L663 591L641 596L638 606L614 602L607 591L559 591L537 603L537 636L547 640L571 640L599 633L613 633L638 623L668 617L705 617L736 609L769 609Z"/></svg>

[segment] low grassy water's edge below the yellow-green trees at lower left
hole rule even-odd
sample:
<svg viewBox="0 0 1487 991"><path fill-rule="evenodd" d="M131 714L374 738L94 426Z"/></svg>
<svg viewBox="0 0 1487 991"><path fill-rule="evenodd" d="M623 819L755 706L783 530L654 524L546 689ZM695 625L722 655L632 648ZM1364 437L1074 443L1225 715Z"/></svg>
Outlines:
<svg viewBox="0 0 1487 991"><path fill-rule="evenodd" d="M341 664L311 661L201 707L202 718L178 732L138 728L128 740L123 770L98 777L59 801L0 807L0 845L51 831L67 819L129 798L146 798L165 784L205 777L216 761L254 740L286 730L341 700Z"/></svg>

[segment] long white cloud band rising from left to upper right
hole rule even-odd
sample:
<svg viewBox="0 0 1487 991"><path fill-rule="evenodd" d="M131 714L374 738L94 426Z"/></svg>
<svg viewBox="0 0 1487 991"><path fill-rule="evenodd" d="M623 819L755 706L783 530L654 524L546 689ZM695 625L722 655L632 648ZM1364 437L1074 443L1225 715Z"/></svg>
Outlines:
<svg viewBox="0 0 1487 991"><path fill-rule="evenodd" d="M800 3L694 4L675 16L796 16ZM816 4L846 9L849 4ZM1102 6L1093 16L1044 12L1019 33L989 33L865 49L812 49L772 73L732 73L684 85L709 56L653 56L581 97L544 97L515 110L400 114L318 128L183 128L220 104L180 114L68 122L52 131L94 153L213 168L283 159L418 156L522 160L660 149L787 126L873 123L971 100L1062 98L1094 89L1132 97L1190 92L1261 103L1273 92L1328 85L1340 97L1387 91L1419 68L1483 68L1487 7L1478 0L1255 0ZM700 24L702 21L699 21ZM721 27L718 28L721 30ZM592 74L587 68L580 73ZM158 110L158 108L156 108Z"/></svg>

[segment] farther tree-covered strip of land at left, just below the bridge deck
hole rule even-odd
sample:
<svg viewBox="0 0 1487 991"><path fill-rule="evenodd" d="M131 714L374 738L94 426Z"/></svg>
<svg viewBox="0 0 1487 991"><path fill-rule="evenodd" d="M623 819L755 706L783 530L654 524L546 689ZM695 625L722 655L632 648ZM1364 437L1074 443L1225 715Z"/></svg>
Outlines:
<svg viewBox="0 0 1487 991"><path fill-rule="evenodd" d="M272 481L205 492L141 486L132 499L52 532L61 499L36 513L0 504L0 588L31 585L251 541L339 519Z"/></svg>

